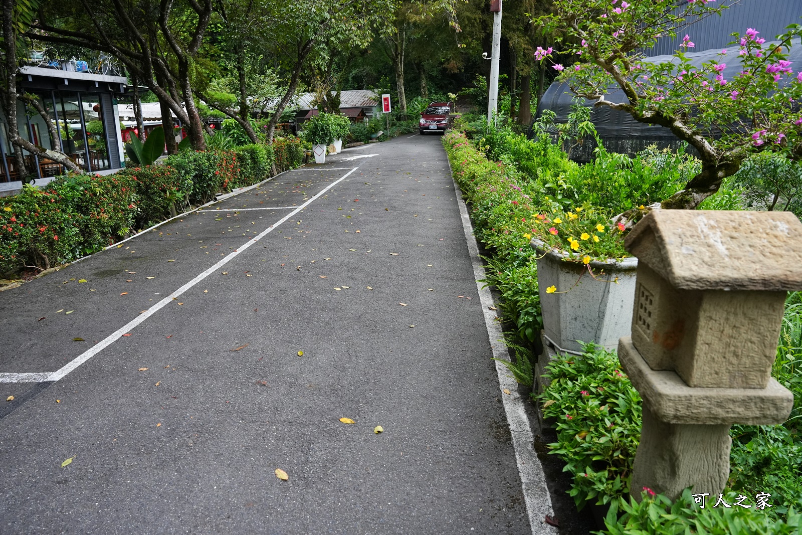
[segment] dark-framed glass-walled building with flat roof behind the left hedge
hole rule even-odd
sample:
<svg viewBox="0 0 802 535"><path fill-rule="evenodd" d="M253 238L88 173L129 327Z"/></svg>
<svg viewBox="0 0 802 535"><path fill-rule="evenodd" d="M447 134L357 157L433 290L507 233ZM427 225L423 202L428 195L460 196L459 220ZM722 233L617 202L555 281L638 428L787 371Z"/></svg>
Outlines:
<svg viewBox="0 0 802 535"><path fill-rule="evenodd" d="M35 59L34 59L34 62ZM87 172L107 173L124 166L117 98L129 91L124 75L107 61L91 68L85 61L41 61L22 67L19 90L36 95L58 127L62 152ZM53 149L47 124L22 102L17 105L19 134L44 148ZM20 180L14 148L0 112L0 183ZM23 151L26 168L37 178L64 172L60 164Z"/></svg>

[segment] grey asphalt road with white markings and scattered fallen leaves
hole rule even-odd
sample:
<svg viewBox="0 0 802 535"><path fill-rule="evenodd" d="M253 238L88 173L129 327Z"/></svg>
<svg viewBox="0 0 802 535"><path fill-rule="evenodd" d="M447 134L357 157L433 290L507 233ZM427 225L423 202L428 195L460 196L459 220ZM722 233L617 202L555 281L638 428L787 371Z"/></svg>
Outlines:
<svg viewBox="0 0 802 535"><path fill-rule="evenodd" d="M2 292L0 533L531 533L455 197L399 138Z"/></svg>

